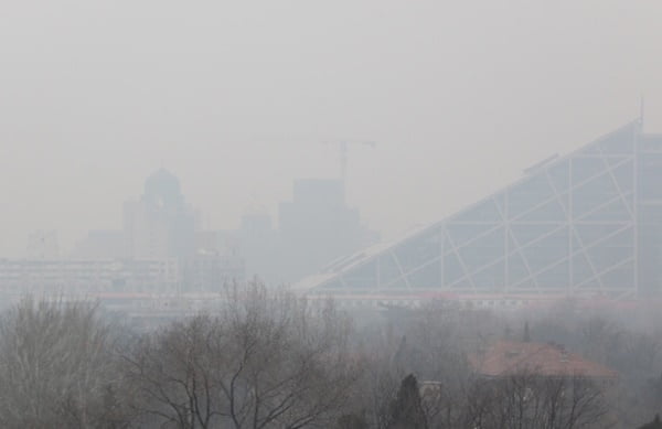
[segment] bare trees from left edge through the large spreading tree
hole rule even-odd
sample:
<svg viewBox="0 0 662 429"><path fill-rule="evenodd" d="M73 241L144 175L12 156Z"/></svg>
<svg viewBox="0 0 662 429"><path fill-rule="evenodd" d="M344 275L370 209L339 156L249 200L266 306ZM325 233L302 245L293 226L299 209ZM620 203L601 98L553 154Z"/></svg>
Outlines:
<svg viewBox="0 0 662 429"><path fill-rule="evenodd" d="M226 298L134 336L86 302L22 301L0 324L0 426L334 425L360 376L349 319L258 285Z"/></svg>

